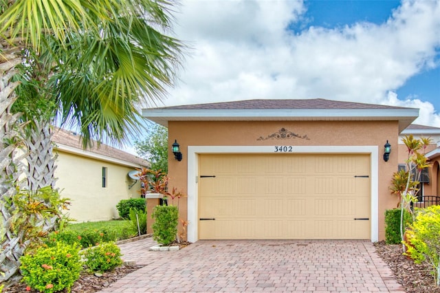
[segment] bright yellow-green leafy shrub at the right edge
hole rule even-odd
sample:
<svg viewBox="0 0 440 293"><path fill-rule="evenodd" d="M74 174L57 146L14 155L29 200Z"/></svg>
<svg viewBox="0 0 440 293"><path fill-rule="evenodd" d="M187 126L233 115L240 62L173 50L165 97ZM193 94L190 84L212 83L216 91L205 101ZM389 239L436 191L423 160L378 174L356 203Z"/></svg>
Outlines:
<svg viewBox="0 0 440 293"><path fill-rule="evenodd" d="M440 286L440 206L418 210L410 228L412 246L406 253L416 263L428 263L436 285Z"/></svg>

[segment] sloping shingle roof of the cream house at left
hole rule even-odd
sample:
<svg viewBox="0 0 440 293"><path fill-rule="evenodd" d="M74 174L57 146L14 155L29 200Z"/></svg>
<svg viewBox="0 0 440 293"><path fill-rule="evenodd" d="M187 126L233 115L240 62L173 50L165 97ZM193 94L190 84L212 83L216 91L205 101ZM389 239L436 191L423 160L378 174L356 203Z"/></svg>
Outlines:
<svg viewBox="0 0 440 293"><path fill-rule="evenodd" d="M52 136L52 141L55 142L56 144L64 144L66 146L71 146L75 149L83 151L83 145L80 142L80 136L72 131L56 128L54 129L54 135ZM139 158L135 155L132 155L131 153L126 153L125 151L121 151L120 149L115 149L107 144L100 144L100 146L98 147L97 143L94 142L94 146L92 148L87 148L85 151L90 153L96 153L98 155L104 155L112 159L118 159L125 162L138 164L141 166L148 166L148 162L146 162L146 160Z"/></svg>

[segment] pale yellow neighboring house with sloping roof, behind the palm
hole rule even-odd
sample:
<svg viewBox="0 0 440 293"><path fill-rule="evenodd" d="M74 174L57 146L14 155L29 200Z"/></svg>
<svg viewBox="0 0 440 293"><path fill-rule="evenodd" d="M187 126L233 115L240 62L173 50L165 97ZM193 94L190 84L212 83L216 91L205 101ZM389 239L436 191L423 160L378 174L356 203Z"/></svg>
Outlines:
<svg viewBox="0 0 440 293"><path fill-rule="evenodd" d="M140 182L127 174L147 166L135 155L101 144L83 150L79 135L56 129L56 188L72 202L69 216L76 221L102 221L119 217L121 199L140 197ZM95 142L96 144L96 142Z"/></svg>

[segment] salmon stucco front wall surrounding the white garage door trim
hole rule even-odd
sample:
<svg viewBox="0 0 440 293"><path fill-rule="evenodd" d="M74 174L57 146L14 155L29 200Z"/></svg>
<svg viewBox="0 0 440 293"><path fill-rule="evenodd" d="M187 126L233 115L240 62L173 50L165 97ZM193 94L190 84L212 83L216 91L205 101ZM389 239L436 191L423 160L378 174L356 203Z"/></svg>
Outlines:
<svg viewBox="0 0 440 293"><path fill-rule="evenodd" d="M271 139L270 135L285 129L295 133L290 139ZM397 204L389 191L393 172L397 170L397 121L170 121L169 147L177 140L183 160L168 154L170 187L188 192L188 146L377 146L377 194L379 240L385 237L384 213ZM393 151L384 162L384 144ZM186 219L187 201L180 202L180 217ZM193 223L190 223L190 225Z"/></svg>

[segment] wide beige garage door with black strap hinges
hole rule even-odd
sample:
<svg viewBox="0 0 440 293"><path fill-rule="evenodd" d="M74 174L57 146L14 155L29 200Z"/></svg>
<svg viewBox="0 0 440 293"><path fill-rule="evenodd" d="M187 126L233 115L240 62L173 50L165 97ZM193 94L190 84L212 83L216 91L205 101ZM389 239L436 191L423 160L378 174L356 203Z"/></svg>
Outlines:
<svg viewBox="0 0 440 293"><path fill-rule="evenodd" d="M200 155L199 239L370 239L369 155Z"/></svg>

